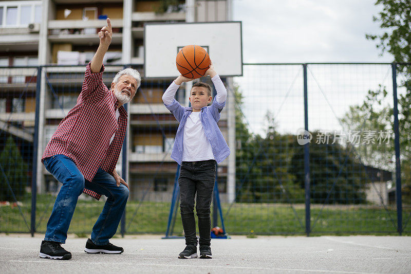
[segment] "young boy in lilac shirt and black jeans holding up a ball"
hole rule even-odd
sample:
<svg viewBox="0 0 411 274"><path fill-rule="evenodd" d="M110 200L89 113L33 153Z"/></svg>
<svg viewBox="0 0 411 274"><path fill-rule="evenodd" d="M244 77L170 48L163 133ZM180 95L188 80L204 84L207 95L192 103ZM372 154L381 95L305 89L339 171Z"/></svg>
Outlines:
<svg viewBox="0 0 411 274"><path fill-rule="evenodd" d="M180 75L165 90L162 97L167 109L180 122L174 141L171 158L181 166L178 184L180 186L180 211L185 236L185 249L180 259L197 258L196 223L194 219L194 197L197 192L196 212L200 233L200 258L211 257L210 204L214 189L216 162L228 157L230 149L218 128L220 112L226 105L227 90L211 63L205 76L210 75L217 90L211 102L211 87L202 82L193 84L190 92L192 107L183 107L174 96L181 83L189 79Z"/></svg>

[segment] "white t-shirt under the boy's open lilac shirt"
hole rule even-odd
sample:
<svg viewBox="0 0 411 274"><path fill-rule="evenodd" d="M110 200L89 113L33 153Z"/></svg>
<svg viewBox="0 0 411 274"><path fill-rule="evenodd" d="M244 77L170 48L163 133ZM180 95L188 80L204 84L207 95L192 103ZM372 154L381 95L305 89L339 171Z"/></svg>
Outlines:
<svg viewBox="0 0 411 274"><path fill-rule="evenodd" d="M201 124L200 113L192 112L184 124L184 162L214 160L213 150Z"/></svg>

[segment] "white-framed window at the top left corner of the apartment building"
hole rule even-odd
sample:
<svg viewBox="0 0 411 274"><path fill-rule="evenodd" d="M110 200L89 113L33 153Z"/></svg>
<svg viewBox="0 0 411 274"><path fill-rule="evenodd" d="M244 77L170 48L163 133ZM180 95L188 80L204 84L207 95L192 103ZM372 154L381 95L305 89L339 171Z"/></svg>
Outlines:
<svg viewBox="0 0 411 274"><path fill-rule="evenodd" d="M31 23L40 23L41 16L41 1L0 2L2 27L27 27Z"/></svg>

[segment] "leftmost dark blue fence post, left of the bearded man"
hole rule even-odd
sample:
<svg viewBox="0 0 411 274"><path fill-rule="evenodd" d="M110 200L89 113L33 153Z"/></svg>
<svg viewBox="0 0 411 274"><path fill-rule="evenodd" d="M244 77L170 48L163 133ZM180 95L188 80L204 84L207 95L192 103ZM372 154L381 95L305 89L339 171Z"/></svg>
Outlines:
<svg viewBox="0 0 411 274"><path fill-rule="evenodd" d="M35 206L37 202L37 145L39 143L39 119L40 119L40 89L41 89L42 67L37 70L37 83L35 88L35 117L34 117L34 136L33 136L33 167L31 177L31 223L30 233L34 236L35 232Z"/></svg>

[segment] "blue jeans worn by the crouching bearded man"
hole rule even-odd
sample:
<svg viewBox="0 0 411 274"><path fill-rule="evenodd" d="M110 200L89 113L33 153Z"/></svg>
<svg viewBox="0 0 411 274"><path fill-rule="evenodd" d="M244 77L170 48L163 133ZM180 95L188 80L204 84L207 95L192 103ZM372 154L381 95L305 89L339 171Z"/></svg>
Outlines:
<svg viewBox="0 0 411 274"><path fill-rule="evenodd" d="M91 232L91 241L96 245L108 244L117 231L128 199L128 189L119 187L113 176L98 169L92 181L84 179L73 160L58 154L44 159L45 168L63 184L54 202L53 211L47 222L44 240L65 243L77 200L84 187L107 196L103 211Z"/></svg>

